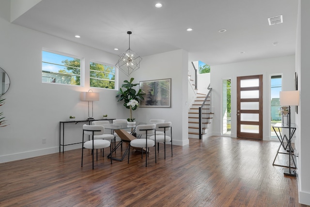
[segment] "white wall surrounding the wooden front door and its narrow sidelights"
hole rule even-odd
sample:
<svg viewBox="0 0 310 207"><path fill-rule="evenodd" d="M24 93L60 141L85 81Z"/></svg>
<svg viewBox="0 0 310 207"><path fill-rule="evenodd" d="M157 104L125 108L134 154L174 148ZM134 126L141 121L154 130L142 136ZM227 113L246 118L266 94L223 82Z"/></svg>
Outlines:
<svg viewBox="0 0 310 207"><path fill-rule="evenodd" d="M232 130L231 137L236 137L236 79L238 76L250 76L263 74L263 140L270 140L270 80L271 74L283 74L283 91L294 90L294 56L263 59L234 64L223 64L212 66L212 104L215 106L213 122L213 134L221 135L221 84L222 79L232 80L231 115ZM294 120L293 120L294 121Z"/></svg>

